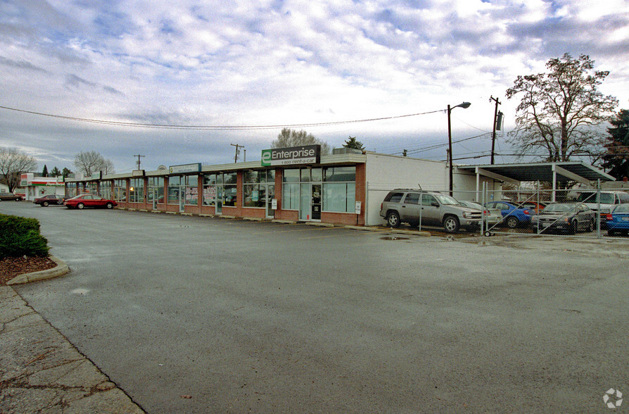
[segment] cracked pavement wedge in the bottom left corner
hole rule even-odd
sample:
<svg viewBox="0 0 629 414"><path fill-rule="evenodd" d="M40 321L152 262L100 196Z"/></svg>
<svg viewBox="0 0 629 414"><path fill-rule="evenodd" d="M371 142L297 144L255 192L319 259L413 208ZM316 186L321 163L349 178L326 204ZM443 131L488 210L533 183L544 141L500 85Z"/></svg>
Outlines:
<svg viewBox="0 0 629 414"><path fill-rule="evenodd" d="M144 413L8 286L0 287L0 413Z"/></svg>

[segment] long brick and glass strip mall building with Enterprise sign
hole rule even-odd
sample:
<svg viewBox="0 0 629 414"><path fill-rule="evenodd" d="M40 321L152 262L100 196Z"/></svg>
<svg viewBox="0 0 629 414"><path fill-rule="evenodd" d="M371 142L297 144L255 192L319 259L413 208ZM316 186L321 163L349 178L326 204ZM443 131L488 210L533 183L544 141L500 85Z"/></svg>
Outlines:
<svg viewBox="0 0 629 414"><path fill-rule="evenodd" d="M99 194L119 208L139 211L378 225L380 203L390 189L421 185L443 191L449 184L448 165L440 161L350 149L319 156L319 151L319 146L269 149L261 161L99 172L67 178L65 196ZM471 172L455 168L453 182L455 196L478 189Z"/></svg>

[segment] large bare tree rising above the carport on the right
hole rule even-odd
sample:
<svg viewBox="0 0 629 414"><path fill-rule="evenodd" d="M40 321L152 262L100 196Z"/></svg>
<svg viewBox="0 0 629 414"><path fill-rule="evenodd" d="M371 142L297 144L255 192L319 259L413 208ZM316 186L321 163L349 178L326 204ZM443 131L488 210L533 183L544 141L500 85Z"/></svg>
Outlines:
<svg viewBox="0 0 629 414"><path fill-rule="evenodd" d="M545 161L596 158L602 152L602 124L618 105L616 98L598 90L609 72L593 70L594 61L586 55L564 54L550 59L546 68L548 73L518 76L507 89L508 99L521 99L509 142L522 155L535 154Z"/></svg>

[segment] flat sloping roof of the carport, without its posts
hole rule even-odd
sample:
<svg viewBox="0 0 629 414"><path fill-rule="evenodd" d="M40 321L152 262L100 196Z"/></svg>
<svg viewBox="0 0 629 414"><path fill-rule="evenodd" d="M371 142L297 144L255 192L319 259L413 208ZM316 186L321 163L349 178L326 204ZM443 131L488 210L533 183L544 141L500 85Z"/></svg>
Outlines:
<svg viewBox="0 0 629 414"><path fill-rule="evenodd" d="M493 172L516 181L547 181L552 182L555 166L563 168L574 175L583 177L588 181L615 181L616 179L598 168L586 164L583 161L561 161L556 163L520 163L520 164L484 164L484 165L457 165L459 170L476 173L476 168ZM481 173L482 175L482 173ZM557 181L572 181L570 177L561 175L557 170Z"/></svg>

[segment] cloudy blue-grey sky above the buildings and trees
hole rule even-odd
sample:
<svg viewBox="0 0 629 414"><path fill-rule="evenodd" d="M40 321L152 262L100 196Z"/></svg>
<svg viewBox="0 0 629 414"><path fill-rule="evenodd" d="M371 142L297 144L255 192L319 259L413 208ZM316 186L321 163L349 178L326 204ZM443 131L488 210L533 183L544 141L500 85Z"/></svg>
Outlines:
<svg viewBox="0 0 629 414"><path fill-rule="evenodd" d="M274 125L331 124L293 128L445 159L443 110L469 101L452 111L452 137L476 138L454 153L478 156L490 96L508 132L506 89L564 53L609 70L601 91L629 108L626 0L0 0L0 146L49 169L98 151L127 172L137 154L147 170L233 162L231 144L253 161ZM388 119L345 123L374 118Z"/></svg>

